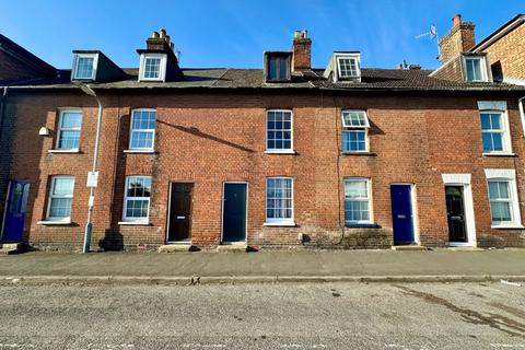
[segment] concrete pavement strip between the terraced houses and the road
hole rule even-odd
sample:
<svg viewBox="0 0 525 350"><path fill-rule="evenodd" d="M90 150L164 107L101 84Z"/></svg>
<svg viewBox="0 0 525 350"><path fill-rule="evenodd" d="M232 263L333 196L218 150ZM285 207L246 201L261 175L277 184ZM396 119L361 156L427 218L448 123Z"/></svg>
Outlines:
<svg viewBox="0 0 525 350"><path fill-rule="evenodd" d="M218 254L27 253L0 256L0 280L264 282L525 279L525 249L266 250Z"/></svg>

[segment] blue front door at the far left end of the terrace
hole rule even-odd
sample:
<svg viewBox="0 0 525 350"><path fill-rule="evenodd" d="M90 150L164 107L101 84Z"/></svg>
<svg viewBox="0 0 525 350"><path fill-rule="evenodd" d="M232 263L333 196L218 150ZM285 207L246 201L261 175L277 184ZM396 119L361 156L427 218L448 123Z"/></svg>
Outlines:
<svg viewBox="0 0 525 350"><path fill-rule="evenodd" d="M30 196L30 184L23 180L9 185L5 221L2 230L2 242L21 242L24 233L25 207Z"/></svg>

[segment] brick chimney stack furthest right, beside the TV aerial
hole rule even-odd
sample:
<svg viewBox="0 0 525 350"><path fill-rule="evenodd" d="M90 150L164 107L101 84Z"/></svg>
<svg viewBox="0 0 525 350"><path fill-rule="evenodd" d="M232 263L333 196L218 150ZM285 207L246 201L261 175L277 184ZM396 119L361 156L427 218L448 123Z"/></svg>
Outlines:
<svg viewBox="0 0 525 350"><path fill-rule="evenodd" d="M463 22L460 14L456 14L452 22L454 23L453 27L440 40L440 61L442 63L476 45L472 22Z"/></svg>

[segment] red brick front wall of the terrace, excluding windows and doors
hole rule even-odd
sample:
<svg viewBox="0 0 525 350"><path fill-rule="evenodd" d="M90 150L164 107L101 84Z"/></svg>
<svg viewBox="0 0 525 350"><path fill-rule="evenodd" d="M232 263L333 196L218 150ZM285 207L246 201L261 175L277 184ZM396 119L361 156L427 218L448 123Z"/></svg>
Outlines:
<svg viewBox="0 0 525 350"><path fill-rule="evenodd" d="M517 105L509 101L513 150L517 156L481 155L477 101L499 96L234 94L165 93L102 95L104 109L100 159L100 186L93 214L93 245L117 248L154 248L165 242L170 182L194 183L192 243L217 245L221 240L222 185L226 180L249 184L248 244L256 246L306 245L345 248L385 248L392 245L389 186L412 183L417 191L417 218L422 244L448 242L443 173L470 173L478 244L524 246L523 231L490 228L485 168L516 168L520 198L525 198ZM52 154L50 138L37 136L39 127L56 130L58 108L84 112L79 154ZM131 108L158 112L155 153L125 153ZM265 154L267 108L293 110L296 154ZM370 149L365 155L339 153L341 108L368 109ZM32 182L25 237L38 247L79 248L86 220L95 135L96 105L80 93L19 95L19 119L12 178ZM46 226L49 176L75 176L73 224ZM150 224L119 225L125 177L151 175ZM294 179L296 228L268 228L265 222L266 177ZM342 180L349 176L372 179L373 217L377 229L345 229ZM523 215L524 213L522 213Z"/></svg>

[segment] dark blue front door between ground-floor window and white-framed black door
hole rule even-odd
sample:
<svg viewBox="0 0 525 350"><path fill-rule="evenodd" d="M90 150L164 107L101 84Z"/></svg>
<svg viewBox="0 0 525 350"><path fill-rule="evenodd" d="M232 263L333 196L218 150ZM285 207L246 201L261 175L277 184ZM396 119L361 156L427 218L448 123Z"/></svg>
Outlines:
<svg viewBox="0 0 525 350"><path fill-rule="evenodd" d="M415 242L412 187L410 185L392 185L390 197L394 244L412 244Z"/></svg>

